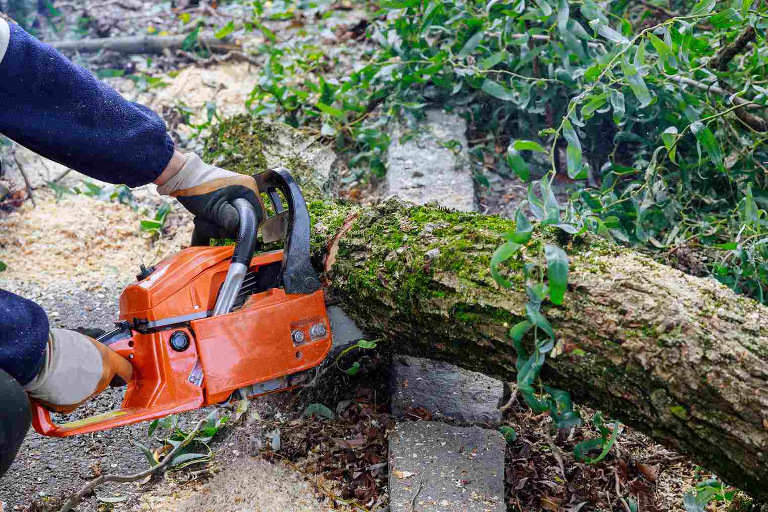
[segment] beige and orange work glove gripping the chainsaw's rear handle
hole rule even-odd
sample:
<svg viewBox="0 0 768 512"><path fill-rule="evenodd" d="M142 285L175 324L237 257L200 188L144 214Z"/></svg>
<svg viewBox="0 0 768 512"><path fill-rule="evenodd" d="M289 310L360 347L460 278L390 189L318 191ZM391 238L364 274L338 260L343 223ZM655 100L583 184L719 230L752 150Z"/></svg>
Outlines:
<svg viewBox="0 0 768 512"><path fill-rule="evenodd" d="M69 414L110 382L129 382L127 359L95 339L67 329L51 329L40 372L25 391L51 411Z"/></svg>

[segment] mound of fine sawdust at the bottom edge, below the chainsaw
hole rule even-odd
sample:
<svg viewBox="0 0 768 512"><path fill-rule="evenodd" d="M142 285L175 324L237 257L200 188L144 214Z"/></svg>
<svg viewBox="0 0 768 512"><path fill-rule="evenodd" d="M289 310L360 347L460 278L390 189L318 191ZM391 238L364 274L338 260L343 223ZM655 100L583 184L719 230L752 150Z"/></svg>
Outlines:
<svg viewBox="0 0 768 512"><path fill-rule="evenodd" d="M144 494L142 510L154 512L313 512L326 510L302 475L277 462L242 458L197 490L166 497Z"/></svg>

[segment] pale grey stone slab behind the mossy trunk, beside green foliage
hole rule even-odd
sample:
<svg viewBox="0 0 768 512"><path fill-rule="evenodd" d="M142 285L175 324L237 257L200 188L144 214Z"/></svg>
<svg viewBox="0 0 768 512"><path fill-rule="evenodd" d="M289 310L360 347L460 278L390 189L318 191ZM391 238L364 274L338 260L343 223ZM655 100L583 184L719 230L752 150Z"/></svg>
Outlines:
<svg viewBox="0 0 768 512"><path fill-rule="evenodd" d="M477 211L466 131L462 117L441 110L427 111L415 129L395 123L387 151L389 196Z"/></svg>

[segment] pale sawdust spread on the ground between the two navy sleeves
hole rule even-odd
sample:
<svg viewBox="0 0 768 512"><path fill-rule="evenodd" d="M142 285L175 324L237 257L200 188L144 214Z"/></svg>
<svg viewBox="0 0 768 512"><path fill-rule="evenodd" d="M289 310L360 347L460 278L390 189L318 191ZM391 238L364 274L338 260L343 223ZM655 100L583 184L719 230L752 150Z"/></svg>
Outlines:
<svg viewBox="0 0 768 512"><path fill-rule="evenodd" d="M0 282L11 291L14 282L71 282L81 289L125 284L141 263L150 266L190 241L192 218L179 205L172 206L158 240L139 230L141 219L154 215L151 203L138 211L81 195L56 203L45 189L38 190L38 198L37 207L28 201L0 216L0 260L8 266Z"/></svg>

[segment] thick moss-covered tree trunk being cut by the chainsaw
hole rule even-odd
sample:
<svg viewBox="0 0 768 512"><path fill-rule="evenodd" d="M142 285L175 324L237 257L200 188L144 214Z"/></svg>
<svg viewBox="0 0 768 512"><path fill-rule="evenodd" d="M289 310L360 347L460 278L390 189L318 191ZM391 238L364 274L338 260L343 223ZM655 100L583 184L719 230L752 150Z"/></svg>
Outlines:
<svg viewBox="0 0 768 512"><path fill-rule="evenodd" d="M270 130L227 121L207 156L262 170L263 148L278 138ZM510 220L323 199L327 176L284 164L311 201L316 266L359 325L396 350L514 380L508 330L525 319L521 269L554 233L536 233L508 261L518 286L501 289L488 266ZM564 305L542 306L559 352L542 379L768 500L768 308L596 236L559 243L571 276Z"/></svg>

